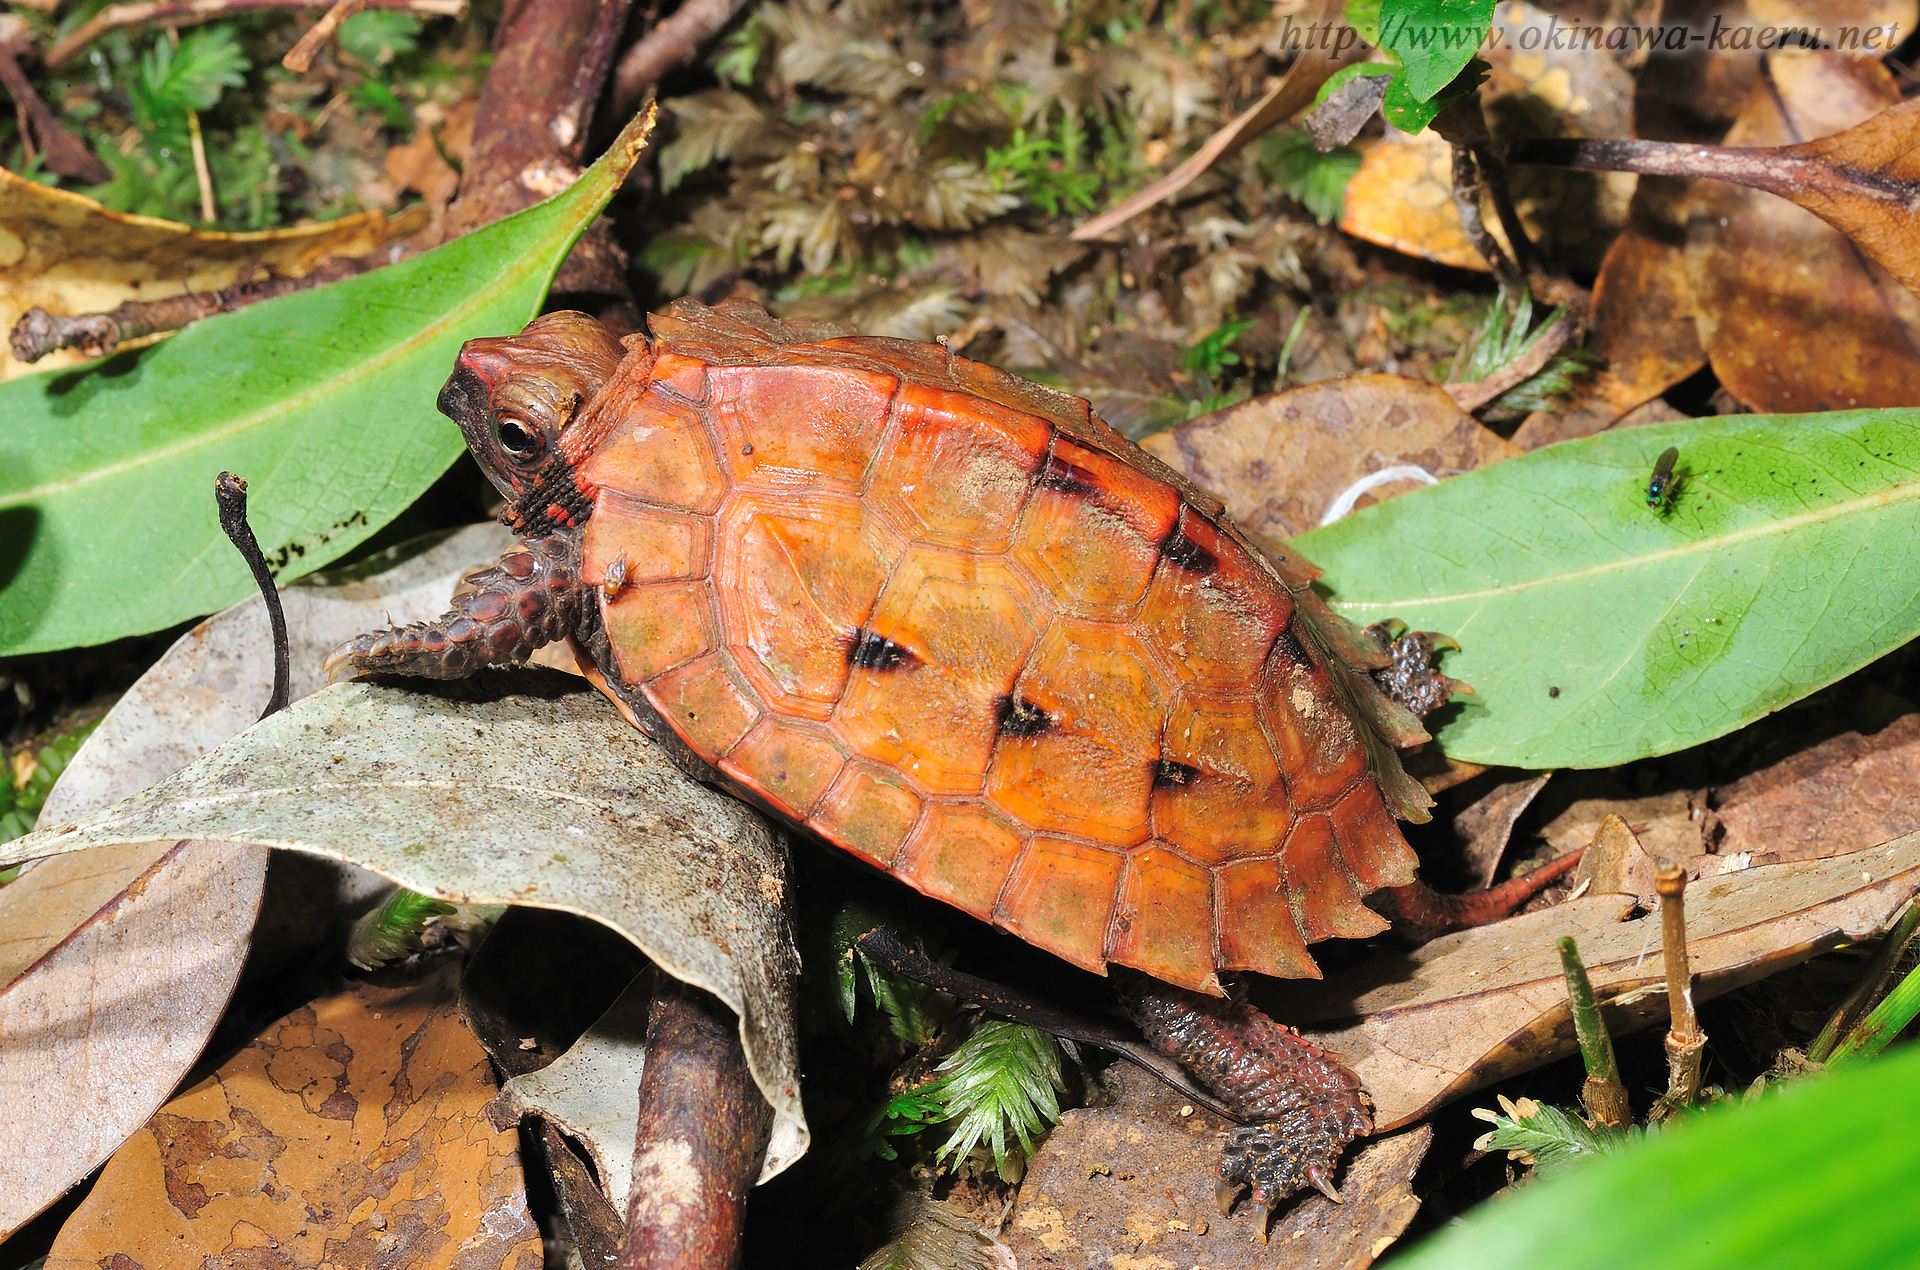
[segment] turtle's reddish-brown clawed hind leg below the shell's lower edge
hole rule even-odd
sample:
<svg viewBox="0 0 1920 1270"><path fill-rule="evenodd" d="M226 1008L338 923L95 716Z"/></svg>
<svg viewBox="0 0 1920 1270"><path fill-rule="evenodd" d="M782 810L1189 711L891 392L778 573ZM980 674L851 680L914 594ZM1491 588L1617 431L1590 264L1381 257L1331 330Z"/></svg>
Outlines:
<svg viewBox="0 0 1920 1270"><path fill-rule="evenodd" d="M1221 1212L1250 1187L1261 1243L1267 1214L1283 1199L1315 1187L1329 1199L1346 1143L1373 1132L1373 1112L1338 1055L1302 1039L1244 999L1137 980L1127 1013L1154 1049L1179 1059L1246 1124L1233 1130L1219 1160Z"/></svg>

